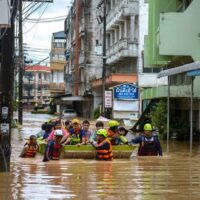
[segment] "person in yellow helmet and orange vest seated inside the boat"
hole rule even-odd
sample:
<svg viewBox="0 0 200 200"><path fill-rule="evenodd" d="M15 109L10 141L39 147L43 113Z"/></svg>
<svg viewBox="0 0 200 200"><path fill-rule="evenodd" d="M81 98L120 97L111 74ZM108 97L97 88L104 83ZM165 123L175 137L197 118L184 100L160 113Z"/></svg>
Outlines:
<svg viewBox="0 0 200 200"><path fill-rule="evenodd" d="M120 143L119 140L119 133L118 133L118 128L119 128L119 122L116 120L110 120L108 122L108 138L110 139L110 142L112 145L117 145Z"/></svg>

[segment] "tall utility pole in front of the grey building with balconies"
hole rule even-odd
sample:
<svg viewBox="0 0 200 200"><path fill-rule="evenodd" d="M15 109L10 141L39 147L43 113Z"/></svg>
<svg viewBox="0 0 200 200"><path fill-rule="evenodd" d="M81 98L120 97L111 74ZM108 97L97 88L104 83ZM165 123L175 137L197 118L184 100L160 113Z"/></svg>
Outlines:
<svg viewBox="0 0 200 200"><path fill-rule="evenodd" d="M102 68L102 115L106 115L105 110L105 89L106 89L106 3L103 0L103 68Z"/></svg>

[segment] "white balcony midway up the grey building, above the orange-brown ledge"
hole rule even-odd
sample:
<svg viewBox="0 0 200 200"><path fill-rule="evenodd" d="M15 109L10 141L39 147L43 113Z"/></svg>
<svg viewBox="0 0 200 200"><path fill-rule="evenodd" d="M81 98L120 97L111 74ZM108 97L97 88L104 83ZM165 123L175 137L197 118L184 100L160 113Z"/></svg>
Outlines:
<svg viewBox="0 0 200 200"><path fill-rule="evenodd" d="M106 55L108 64L119 62L125 57L137 57L138 44L129 39L121 39L107 49Z"/></svg>

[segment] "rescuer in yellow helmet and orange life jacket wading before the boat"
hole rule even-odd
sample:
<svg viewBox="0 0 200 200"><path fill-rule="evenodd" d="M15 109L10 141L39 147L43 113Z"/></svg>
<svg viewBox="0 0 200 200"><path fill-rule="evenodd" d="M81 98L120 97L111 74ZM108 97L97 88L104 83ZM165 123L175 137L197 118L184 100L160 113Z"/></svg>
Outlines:
<svg viewBox="0 0 200 200"><path fill-rule="evenodd" d="M97 131L97 143L91 141L90 143L97 151L97 160L112 160L112 144L107 138L108 134L105 129L99 129Z"/></svg>

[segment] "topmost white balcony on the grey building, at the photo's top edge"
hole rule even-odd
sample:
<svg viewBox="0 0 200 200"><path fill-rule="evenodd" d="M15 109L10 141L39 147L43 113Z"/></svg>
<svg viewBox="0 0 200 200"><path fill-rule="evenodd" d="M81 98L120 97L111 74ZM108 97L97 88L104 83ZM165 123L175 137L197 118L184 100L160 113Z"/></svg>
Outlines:
<svg viewBox="0 0 200 200"><path fill-rule="evenodd" d="M114 8L112 8L107 16L106 29L112 28L112 26L120 21L123 17L138 15L139 13L139 0L122 0Z"/></svg>

